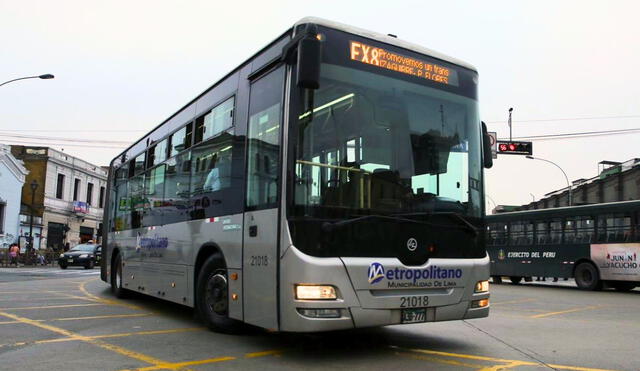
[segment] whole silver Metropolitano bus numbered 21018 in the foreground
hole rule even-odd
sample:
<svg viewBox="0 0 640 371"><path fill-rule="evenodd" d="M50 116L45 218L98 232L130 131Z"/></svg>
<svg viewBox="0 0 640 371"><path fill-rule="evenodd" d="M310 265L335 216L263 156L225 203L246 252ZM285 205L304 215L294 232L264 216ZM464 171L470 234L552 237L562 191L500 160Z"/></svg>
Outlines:
<svg viewBox="0 0 640 371"><path fill-rule="evenodd" d="M113 159L102 280L222 331L486 317L477 84L301 20Z"/></svg>

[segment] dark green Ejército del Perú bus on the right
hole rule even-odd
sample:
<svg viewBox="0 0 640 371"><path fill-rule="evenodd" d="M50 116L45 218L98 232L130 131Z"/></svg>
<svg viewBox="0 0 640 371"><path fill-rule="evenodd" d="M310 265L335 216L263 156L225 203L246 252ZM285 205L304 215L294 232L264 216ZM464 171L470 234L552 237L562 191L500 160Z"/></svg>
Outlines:
<svg viewBox="0 0 640 371"><path fill-rule="evenodd" d="M575 278L579 288L640 286L640 201L487 216L494 282Z"/></svg>

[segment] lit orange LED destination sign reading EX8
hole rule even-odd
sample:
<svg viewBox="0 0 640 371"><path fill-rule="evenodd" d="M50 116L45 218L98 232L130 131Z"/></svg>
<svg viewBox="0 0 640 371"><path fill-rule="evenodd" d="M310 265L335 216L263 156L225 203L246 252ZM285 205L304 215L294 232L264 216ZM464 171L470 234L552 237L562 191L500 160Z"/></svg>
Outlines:
<svg viewBox="0 0 640 371"><path fill-rule="evenodd" d="M376 48L361 42L351 41L349 44L351 60L421 77L445 85L457 85L455 71L449 68L392 53L388 50Z"/></svg>

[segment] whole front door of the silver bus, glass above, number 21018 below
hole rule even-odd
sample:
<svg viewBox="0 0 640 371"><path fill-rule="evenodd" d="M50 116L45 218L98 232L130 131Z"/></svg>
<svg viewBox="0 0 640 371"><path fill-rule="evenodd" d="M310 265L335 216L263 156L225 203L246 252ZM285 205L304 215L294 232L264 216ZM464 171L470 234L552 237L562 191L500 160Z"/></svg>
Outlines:
<svg viewBox="0 0 640 371"><path fill-rule="evenodd" d="M278 329L280 136L284 67L251 82L243 239L247 323Z"/></svg>

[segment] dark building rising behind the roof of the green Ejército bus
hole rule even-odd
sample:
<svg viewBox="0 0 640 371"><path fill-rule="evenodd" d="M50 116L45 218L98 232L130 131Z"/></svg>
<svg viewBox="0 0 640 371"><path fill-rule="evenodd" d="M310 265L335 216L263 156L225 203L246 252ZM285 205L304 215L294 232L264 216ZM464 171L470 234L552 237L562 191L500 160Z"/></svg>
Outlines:
<svg viewBox="0 0 640 371"><path fill-rule="evenodd" d="M640 158L625 162L601 161L598 175L572 182L571 204L588 205L605 202L640 200ZM538 201L526 205L498 205L494 213L548 209L569 205L569 188L547 193Z"/></svg>

